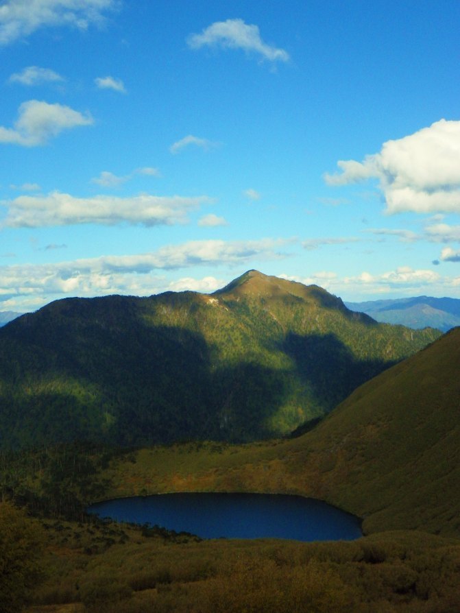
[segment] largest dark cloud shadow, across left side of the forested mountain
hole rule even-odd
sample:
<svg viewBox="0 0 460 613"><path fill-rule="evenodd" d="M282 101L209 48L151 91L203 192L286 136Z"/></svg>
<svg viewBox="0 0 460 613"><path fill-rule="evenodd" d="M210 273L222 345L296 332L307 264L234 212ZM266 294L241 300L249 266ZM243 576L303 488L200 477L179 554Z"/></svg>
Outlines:
<svg viewBox="0 0 460 613"><path fill-rule="evenodd" d="M216 370L201 333L149 325L129 308L101 313L101 322L79 313L75 324L53 313L0 344L0 381L14 390L0 398L3 441L138 446L269 435L263 422L287 396L282 372L252 363Z"/></svg>

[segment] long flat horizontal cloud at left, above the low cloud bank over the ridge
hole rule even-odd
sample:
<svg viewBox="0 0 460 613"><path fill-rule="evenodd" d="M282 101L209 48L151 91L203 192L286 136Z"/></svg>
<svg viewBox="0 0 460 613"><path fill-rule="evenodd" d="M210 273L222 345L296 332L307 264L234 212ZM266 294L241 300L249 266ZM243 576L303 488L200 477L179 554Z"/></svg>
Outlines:
<svg viewBox="0 0 460 613"><path fill-rule="evenodd" d="M158 226L183 224L187 213L211 202L207 196L153 196L133 197L97 195L77 198L54 191L43 196L19 196L4 201L8 215L3 226L10 228L40 228L43 226L67 226L71 224L143 224Z"/></svg>

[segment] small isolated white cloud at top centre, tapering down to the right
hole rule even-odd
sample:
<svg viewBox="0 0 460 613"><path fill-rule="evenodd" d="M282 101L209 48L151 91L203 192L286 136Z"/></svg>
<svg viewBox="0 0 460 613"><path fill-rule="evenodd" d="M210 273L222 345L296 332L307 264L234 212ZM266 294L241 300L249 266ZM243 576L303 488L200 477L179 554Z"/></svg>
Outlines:
<svg viewBox="0 0 460 613"><path fill-rule="evenodd" d="M216 21L204 28L201 34L191 34L187 43L192 49L201 47L220 47L221 49L243 49L247 53L256 53L263 60L270 62L287 62L289 53L267 45L261 39L257 25L247 25L243 19Z"/></svg>

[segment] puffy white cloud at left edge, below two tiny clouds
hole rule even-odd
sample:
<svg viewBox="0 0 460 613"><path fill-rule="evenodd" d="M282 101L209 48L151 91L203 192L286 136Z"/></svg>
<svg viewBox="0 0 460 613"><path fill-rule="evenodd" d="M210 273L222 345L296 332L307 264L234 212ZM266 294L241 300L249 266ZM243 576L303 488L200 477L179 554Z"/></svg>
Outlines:
<svg viewBox="0 0 460 613"><path fill-rule="evenodd" d="M92 123L93 118L89 113L82 115L62 104L29 100L19 107L14 128L0 126L0 143L36 147L45 145L51 137L58 136L63 130Z"/></svg>

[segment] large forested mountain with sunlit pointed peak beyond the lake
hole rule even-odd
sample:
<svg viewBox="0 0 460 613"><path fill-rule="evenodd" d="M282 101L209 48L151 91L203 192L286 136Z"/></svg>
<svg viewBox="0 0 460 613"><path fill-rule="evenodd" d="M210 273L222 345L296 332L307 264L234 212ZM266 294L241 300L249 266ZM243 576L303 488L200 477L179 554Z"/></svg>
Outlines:
<svg viewBox="0 0 460 613"><path fill-rule="evenodd" d="M289 433L438 336L256 271L210 295L57 300L0 329L0 446Z"/></svg>

